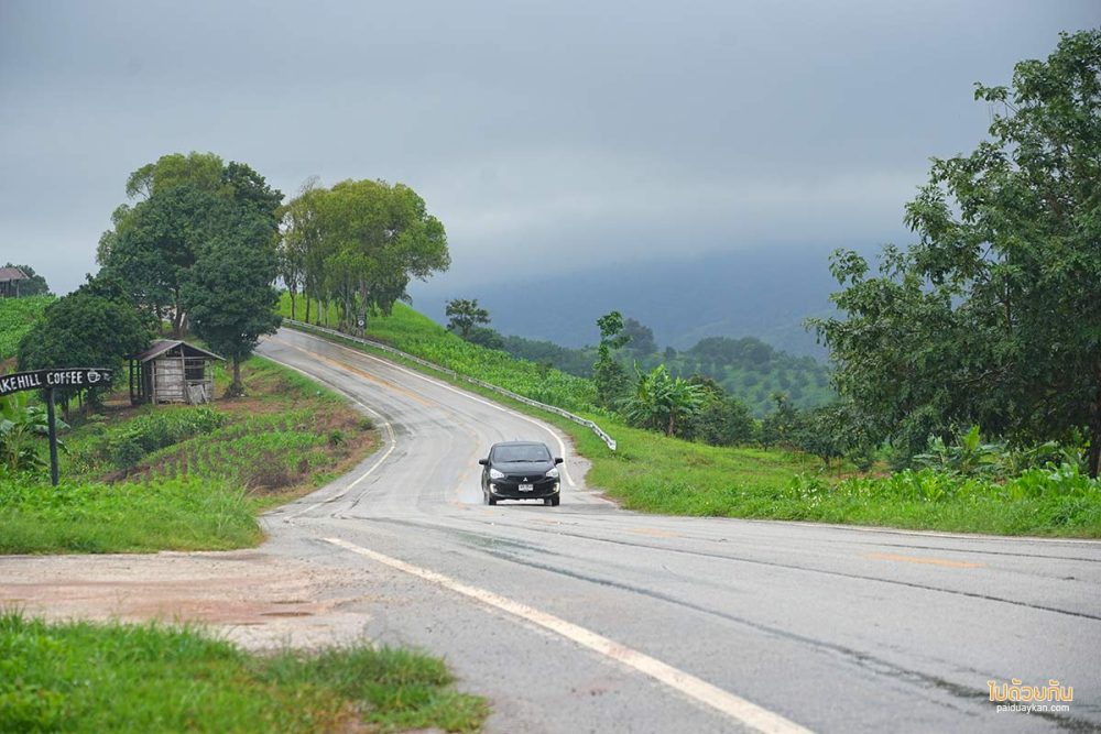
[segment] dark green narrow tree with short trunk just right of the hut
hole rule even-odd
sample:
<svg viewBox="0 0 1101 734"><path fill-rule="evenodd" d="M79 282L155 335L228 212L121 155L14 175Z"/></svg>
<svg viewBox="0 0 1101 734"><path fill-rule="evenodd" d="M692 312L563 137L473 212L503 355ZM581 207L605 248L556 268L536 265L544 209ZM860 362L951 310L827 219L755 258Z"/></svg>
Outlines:
<svg viewBox="0 0 1101 734"><path fill-rule="evenodd" d="M183 304L197 333L233 363L228 395L243 393L241 362L260 337L279 329L279 292L273 220L244 207L230 217L200 252L184 283Z"/></svg>

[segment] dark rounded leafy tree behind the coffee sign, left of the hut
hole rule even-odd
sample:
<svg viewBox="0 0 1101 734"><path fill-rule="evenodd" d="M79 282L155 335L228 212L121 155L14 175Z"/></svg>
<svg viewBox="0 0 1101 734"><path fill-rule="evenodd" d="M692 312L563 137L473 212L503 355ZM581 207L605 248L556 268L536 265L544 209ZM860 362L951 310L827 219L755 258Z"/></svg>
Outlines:
<svg viewBox="0 0 1101 734"><path fill-rule="evenodd" d="M149 347L150 321L122 298L118 284L90 278L76 292L58 298L19 343L19 368L106 368L112 384L124 376L124 360ZM87 392L96 404L107 385ZM58 388L64 404L79 391Z"/></svg>

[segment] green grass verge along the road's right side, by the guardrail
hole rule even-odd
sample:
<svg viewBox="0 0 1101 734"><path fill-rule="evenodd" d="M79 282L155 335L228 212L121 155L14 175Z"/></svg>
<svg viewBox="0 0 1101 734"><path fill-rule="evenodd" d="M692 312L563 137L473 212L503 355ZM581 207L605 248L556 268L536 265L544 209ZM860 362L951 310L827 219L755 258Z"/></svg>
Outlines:
<svg viewBox="0 0 1101 734"><path fill-rule="evenodd" d="M442 361L439 355L451 350L449 342L458 338L407 307L395 309L392 317L374 318L369 327L368 336L411 354L534 397L517 388L528 379L531 363L513 360L510 368L509 361L495 361L500 352L466 342L467 359ZM433 346L434 339L447 343ZM356 342L345 343L371 351ZM484 361L492 361L495 379L477 366L482 361L479 354ZM425 371L416 363L405 363ZM515 370L511 377L510 369ZM450 380L444 373L432 373L562 428L574 439L577 450L592 462L588 484L602 489L630 510L996 535L1101 537L1101 483L1098 482L1058 480L1049 483L1049 490L1037 492L1015 491L1012 483L959 491L966 486L966 480L942 475L935 483L956 489L918 496L895 476L846 478L840 468L827 468L807 454L709 447L629 428L614 416L590 413L568 402L542 401L596 420L617 440L618 451L611 451L587 428ZM811 485L817 489L808 492Z"/></svg>

